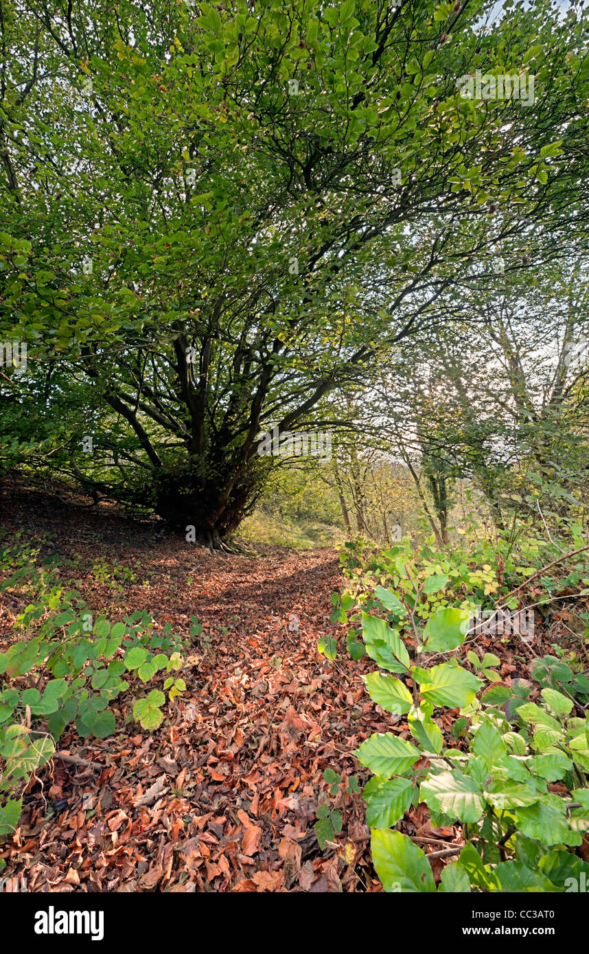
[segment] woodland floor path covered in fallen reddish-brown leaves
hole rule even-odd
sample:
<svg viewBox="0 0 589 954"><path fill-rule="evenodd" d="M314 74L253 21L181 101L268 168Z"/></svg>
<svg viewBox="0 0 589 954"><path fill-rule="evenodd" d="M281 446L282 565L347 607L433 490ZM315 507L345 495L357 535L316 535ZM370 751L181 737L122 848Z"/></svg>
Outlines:
<svg viewBox="0 0 589 954"><path fill-rule="evenodd" d="M130 691L114 704L116 736L66 729L59 751L99 767L55 757L40 770L0 850L4 877L24 875L29 891L380 890L360 795L347 796L343 830L324 851L314 831L321 802L341 808L324 771L362 782L351 753L390 718L364 688L369 660L317 651L343 582L335 550L229 556L115 509L23 490L5 495L0 522L2 545L19 532L40 544L38 564L75 581L93 612L115 622L144 609L182 635L197 615L207 637L193 640L186 691L154 733L125 720ZM0 596L0 643L26 603Z"/></svg>

